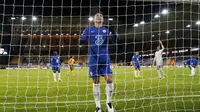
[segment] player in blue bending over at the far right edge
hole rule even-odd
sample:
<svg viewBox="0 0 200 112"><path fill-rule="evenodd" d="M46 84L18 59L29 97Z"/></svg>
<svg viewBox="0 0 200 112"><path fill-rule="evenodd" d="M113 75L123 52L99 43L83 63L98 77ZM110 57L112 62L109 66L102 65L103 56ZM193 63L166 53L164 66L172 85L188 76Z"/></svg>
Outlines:
<svg viewBox="0 0 200 112"><path fill-rule="evenodd" d="M197 64L198 64L198 60L196 58L190 58L190 59L187 59L185 61L185 64L190 68L191 70L191 74L190 76L194 76L195 75L195 69L197 67Z"/></svg>

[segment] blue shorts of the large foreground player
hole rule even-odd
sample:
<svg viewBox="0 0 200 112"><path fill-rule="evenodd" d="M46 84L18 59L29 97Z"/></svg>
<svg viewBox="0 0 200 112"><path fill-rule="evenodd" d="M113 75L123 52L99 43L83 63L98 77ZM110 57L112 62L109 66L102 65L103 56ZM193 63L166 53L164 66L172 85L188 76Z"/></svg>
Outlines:
<svg viewBox="0 0 200 112"><path fill-rule="evenodd" d="M95 78L95 77L98 77L98 76L111 75L111 74L112 74L112 70L110 68L110 64L89 66L89 76L90 76L90 78Z"/></svg>

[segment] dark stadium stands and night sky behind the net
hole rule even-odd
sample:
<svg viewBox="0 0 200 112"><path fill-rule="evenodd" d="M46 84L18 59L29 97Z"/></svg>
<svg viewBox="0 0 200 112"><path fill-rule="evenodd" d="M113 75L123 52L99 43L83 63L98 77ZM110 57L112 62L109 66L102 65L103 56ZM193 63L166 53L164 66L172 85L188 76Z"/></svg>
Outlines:
<svg viewBox="0 0 200 112"><path fill-rule="evenodd" d="M163 9L168 9L167 15L161 15ZM158 40L162 40L166 47L165 52L172 50L188 49L186 53L178 53L176 56L183 55L199 55L199 51L190 52L190 48L200 45L199 26L196 21L200 20L200 6L195 3L181 2L145 2L145 1L126 1L126 0L0 0L0 47L8 50L8 56L1 56L0 63L8 64L9 60L16 55L25 55L28 52L25 48L25 43L15 41L13 46L12 26L21 26L20 31L16 34L24 35L27 32L22 32L26 25L33 25L31 17L34 15L38 18L37 25L51 24L52 21L57 21L58 24L75 24L72 21L80 20L93 16L96 12L101 11L105 20L112 17L114 21L108 21L105 25L113 27L120 35L120 41L117 44L110 45L110 55L112 61L127 62L130 61L134 52L139 51L141 55L154 53L158 45ZM156 14L160 14L160 18L154 18ZM22 16L27 17L25 22L20 21ZM12 21L11 17L16 17ZM17 18L18 17L18 18ZM55 20L57 17L57 20ZM71 19L65 21L63 17ZM50 19L50 22L45 22ZM84 20L84 19L83 19ZM139 25L135 28L135 23L145 21L144 25ZM88 21L80 21L78 24L91 25ZM190 24L190 28L186 26ZM77 34L81 35L84 28L77 30ZM166 31L170 31L166 34ZM30 31L33 31L31 29ZM71 28L69 28L71 32ZM40 31L41 33L42 31ZM68 32L70 35L72 33ZM58 32L51 32L55 35ZM67 33L67 32L64 32ZM74 33L74 32L73 32ZM47 34L47 33L46 33ZM33 35L33 33L31 33ZM37 34L38 35L38 34ZM152 36L154 35L154 36ZM19 37L23 38L23 37ZM72 39L72 38L70 38ZM28 39L26 39L28 41ZM74 43L65 45L65 49L59 50L60 46L55 47L60 51L60 55L87 55L87 46L78 47L78 38L72 39ZM38 43L40 45L41 43ZM74 49L69 45L75 46ZM70 49L69 49L70 48ZM29 48L30 49L30 48ZM45 51L45 49L47 49ZM50 55L51 50L45 48L44 51L40 48L40 53L35 55ZM49 52L48 52L49 51ZM34 55L34 54L33 54ZM168 56L168 55L165 55ZM152 56L146 56L149 58Z"/></svg>

